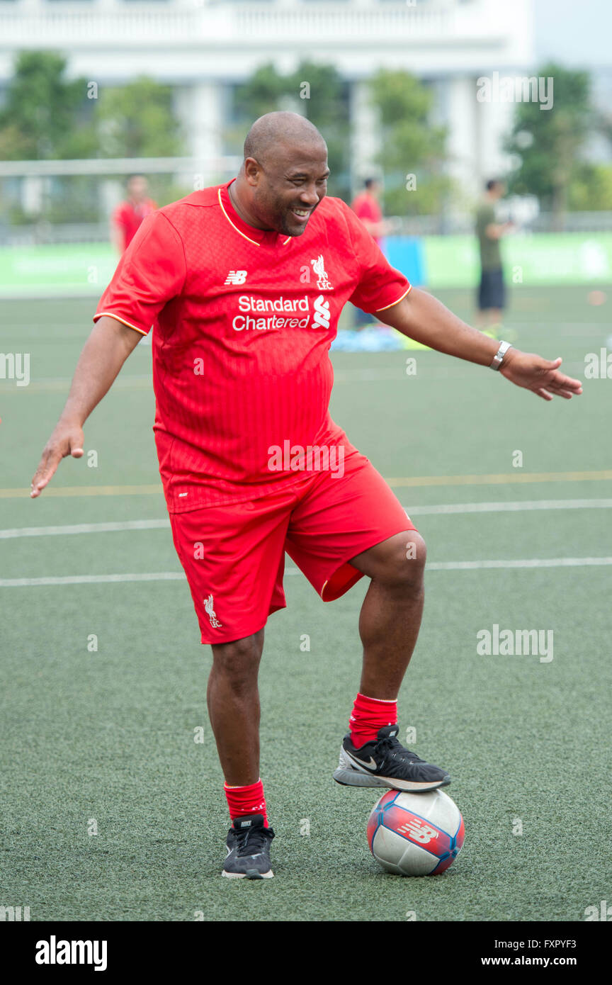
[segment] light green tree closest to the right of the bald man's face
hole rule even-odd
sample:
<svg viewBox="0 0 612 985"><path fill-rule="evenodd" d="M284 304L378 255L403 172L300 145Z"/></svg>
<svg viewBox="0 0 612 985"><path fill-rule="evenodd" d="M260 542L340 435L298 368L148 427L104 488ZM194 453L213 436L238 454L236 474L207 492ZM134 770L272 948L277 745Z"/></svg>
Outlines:
<svg viewBox="0 0 612 985"><path fill-rule="evenodd" d="M371 79L370 89L380 119L382 150L377 160L385 174L387 212L440 212L453 183L444 173L446 128L430 122L431 92L408 72L389 69ZM406 184L412 189L406 190Z"/></svg>

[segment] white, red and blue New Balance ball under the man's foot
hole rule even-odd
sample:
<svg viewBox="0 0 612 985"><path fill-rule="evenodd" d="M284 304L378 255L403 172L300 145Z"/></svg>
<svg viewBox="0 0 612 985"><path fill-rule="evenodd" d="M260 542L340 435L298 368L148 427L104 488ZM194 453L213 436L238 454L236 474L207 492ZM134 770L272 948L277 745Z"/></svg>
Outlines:
<svg viewBox="0 0 612 985"><path fill-rule="evenodd" d="M459 808L442 790L388 790L368 821L370 851L396 876L437 876L453 865L463 838Z"/></svg>

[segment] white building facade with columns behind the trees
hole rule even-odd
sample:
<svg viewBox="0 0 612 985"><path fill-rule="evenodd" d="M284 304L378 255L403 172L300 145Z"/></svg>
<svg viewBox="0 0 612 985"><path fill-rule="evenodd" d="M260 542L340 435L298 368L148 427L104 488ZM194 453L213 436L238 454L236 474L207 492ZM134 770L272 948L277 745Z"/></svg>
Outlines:
<svg viewBox="0 0 612 985"><path fill-rule="evenodd" d="M264 62L333 62L351 83L354 170L376 153L364 81L381 67L434 85L450 168L473 194L505 169L513 105L476 99L476 79L533 63L532 0L0 0L0 89L23 49L64 52L98 87L147 74L170 84L194 157L222 151L223 89ZM409 169L409 165L406 166Z"/></svg>

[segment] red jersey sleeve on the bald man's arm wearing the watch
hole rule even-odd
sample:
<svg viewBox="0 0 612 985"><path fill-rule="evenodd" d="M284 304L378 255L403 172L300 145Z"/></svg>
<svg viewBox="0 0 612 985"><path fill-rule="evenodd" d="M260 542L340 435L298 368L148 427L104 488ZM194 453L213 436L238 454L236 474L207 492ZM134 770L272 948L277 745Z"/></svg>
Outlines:
<svg viewBox="0 0 612 985"><path fill-rule="evenodd" d="M392 267L368 230L355 216L352 209L344 206L348 231L359 265L359 280L349 300L352 304L375 314L397 304L405 297L410 284Z"/></svg>

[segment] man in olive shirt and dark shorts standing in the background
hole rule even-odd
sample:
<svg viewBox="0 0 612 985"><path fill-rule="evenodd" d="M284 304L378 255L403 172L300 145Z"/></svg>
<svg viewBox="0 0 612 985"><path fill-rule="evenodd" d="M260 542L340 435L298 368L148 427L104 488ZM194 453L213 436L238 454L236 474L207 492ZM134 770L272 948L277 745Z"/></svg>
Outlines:
<svg viewBox="0 0 612 985"><path fill-rule="evenodd" d="M486 335L497 338L502 311L506 306L500 240L512 229L513 224L497 222L496 205L506 194L504 182L491 179L485 187L483 199L476 211L481 273L475 325Z"/></svg>

